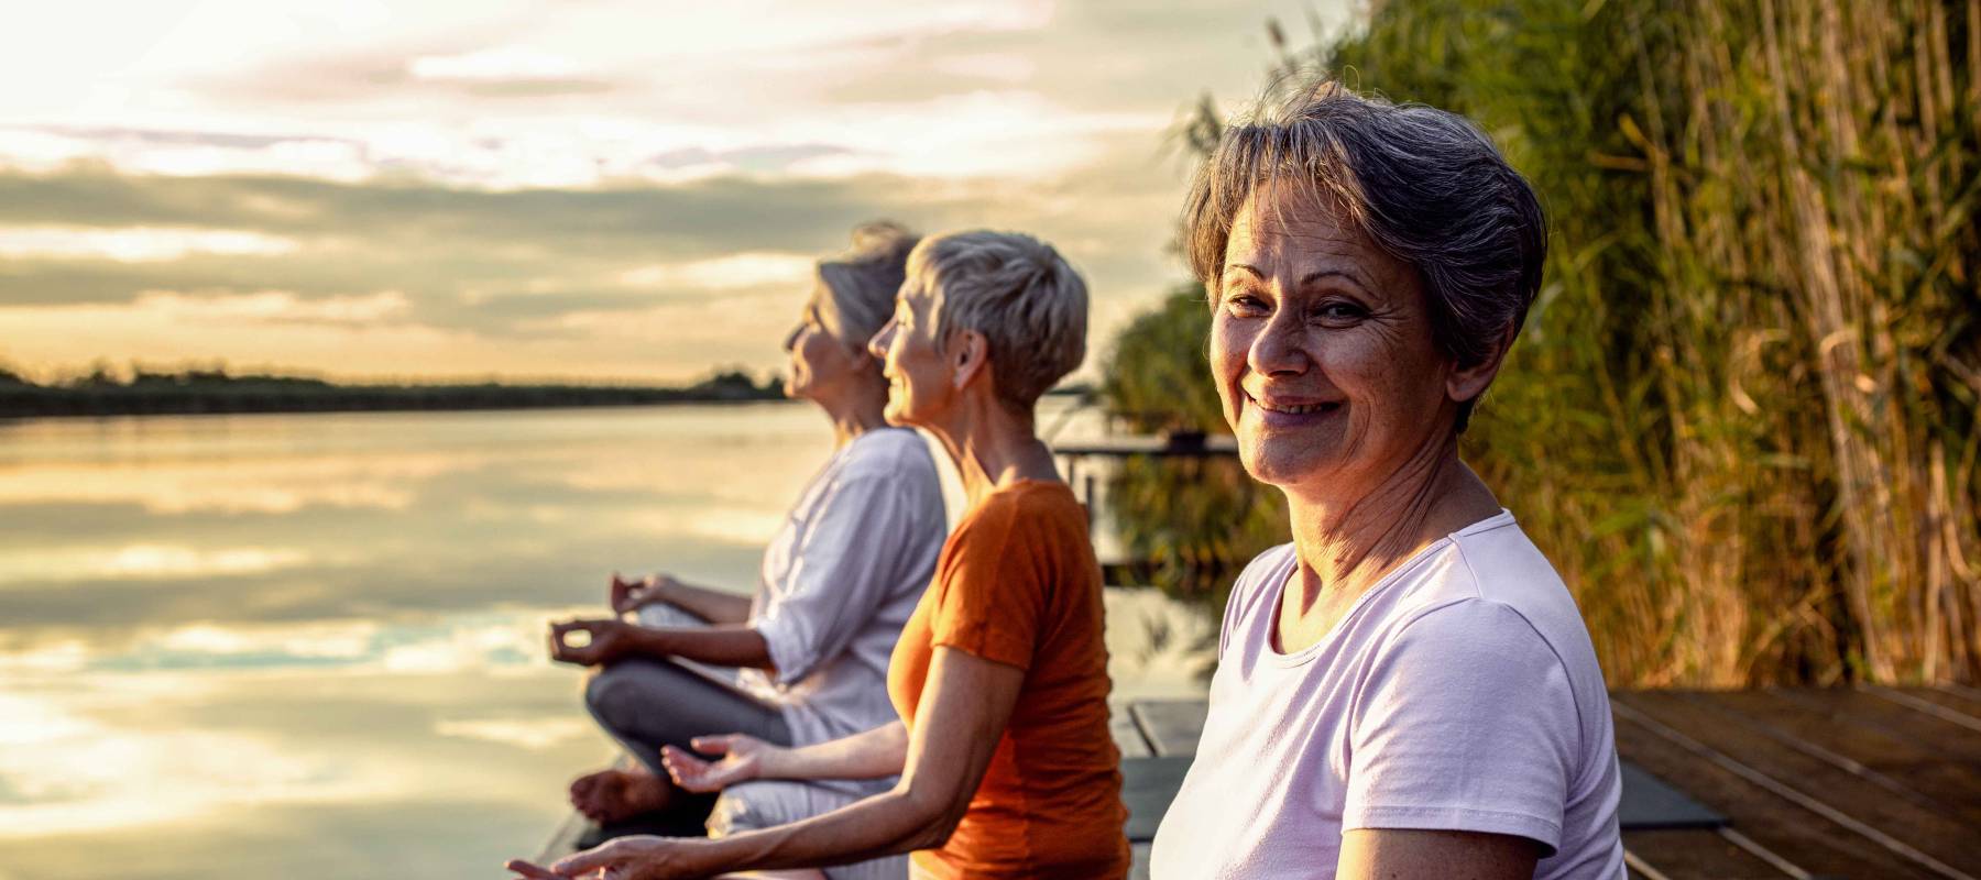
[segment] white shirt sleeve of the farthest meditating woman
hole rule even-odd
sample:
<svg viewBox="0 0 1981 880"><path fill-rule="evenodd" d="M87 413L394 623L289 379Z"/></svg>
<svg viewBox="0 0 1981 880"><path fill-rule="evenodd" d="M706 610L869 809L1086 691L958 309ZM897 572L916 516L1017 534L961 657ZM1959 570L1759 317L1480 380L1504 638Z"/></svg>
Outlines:
<svg viewBox="0 0 1981 880"><path fill-rule="evenodd" d="M899 587L917 515L897 478L850 476L828 490L798 537L792 583L751 624L779 684L810 676L874 622Z"/></svg>

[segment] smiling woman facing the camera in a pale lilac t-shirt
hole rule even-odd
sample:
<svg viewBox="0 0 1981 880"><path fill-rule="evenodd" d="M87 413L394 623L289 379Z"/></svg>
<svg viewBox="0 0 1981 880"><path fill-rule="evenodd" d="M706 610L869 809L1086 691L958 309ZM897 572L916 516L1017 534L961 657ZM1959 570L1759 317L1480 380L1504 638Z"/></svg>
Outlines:
<svg viewBox="0 0 1981 880"><path fill-rule="evenodd" d="M1268 95L1185 208L1210 371L1294 541L1224 610L1157 880L1620 878L1589 630L1458 458L1541 285L1527 182L1452 113Z"/></svg>

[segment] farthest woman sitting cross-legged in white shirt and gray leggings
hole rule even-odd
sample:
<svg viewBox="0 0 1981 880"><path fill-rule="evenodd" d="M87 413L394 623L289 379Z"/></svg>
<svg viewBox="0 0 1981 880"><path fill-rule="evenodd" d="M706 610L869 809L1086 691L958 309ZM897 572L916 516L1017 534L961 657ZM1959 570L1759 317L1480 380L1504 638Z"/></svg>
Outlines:
<svg viewBox="0 0 1981 880"><path fill-rule="evenodd" d="M670 825L707 819L711 832L725 834L808 819L893 785L767 781L733 787L711 805L678 789L660 755L715 733L800 747L897 717L887 656L935 571L947 519L927 444L882 416L887 383L866 341L887 321L915 242L899 226L870 224L854 232L850 254L818 264L804 315L784 339L784 390L826 412L836 444L765 551L755 595L668 575L632 583L614 575L612 608L638 612L638 622L553 626L551 654L598 666L584 702L638 757L634 767L571 785L573 805L594 821L664 813ZM590 636L582 646L569 640L578 630ZM895 856L826 876L899 878L905 864Z"/></svg>

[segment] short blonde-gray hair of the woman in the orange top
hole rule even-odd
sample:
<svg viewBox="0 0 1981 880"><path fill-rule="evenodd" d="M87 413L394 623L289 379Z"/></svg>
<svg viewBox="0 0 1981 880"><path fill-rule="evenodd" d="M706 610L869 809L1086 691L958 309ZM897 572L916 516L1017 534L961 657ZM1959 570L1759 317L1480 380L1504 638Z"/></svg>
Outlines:
<svg viewBox="0 0 1981 880"><path fill-rule="evenodd" d="M998 396L1030 410L1088 357L1088 283L1050 244L1018 232L951 232L907 256L937 295L935 333L983 333Z"/></svg>

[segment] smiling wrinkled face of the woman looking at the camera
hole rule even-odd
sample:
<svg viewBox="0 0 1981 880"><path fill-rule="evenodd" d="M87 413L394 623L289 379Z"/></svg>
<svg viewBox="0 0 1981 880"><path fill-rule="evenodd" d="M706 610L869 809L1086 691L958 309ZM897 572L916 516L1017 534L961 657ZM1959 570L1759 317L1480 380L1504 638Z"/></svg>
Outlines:
<svg viewBox="0 0 1981 880"><path fill-rule="evenodd" d="M1311 194L1254 192L1212 303L1210 373L1252 478L1359 497L1450 434L1418 274Z"/></svg>

